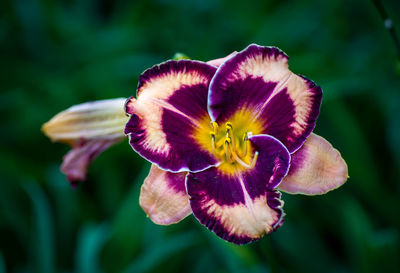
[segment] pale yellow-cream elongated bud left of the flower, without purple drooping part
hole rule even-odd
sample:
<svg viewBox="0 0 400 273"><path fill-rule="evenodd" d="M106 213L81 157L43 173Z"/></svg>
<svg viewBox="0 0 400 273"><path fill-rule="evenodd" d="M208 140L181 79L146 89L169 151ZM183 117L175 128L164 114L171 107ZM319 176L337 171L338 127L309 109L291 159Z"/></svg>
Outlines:
<svg viewBox="0 0 400 273"><path fill-rule="evenodd" d="M128 117L125 98L74 105L43 124L42 131L52 140L74 144L82 139L124 138Z"/></svg>

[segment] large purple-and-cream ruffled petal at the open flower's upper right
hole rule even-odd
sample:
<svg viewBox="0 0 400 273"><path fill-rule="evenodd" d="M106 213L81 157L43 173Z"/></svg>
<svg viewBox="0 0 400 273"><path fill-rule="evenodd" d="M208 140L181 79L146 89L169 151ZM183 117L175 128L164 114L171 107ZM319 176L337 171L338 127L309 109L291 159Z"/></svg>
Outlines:
<svg viewBox="0 0 400 273"><path fill-rule="evenodd" d="M321 88L288 69L288 56L275 47L250 45L225 61L210 84L208 110L223 123L237 111L251 111L249 122L279 139L292 153L315 127Z"/></svg>

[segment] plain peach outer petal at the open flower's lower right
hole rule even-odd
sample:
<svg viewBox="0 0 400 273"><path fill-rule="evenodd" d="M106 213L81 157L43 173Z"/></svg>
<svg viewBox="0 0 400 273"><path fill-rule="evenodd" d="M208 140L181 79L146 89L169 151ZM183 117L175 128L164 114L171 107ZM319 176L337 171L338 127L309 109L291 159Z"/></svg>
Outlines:
<svg viewBox="0 0 400 273"><path fill-rule="evenodd" d="M292 155L288 175L279 189L288 193L324 194L348 178L346 162L324 138L311 134Z"/></svg>

